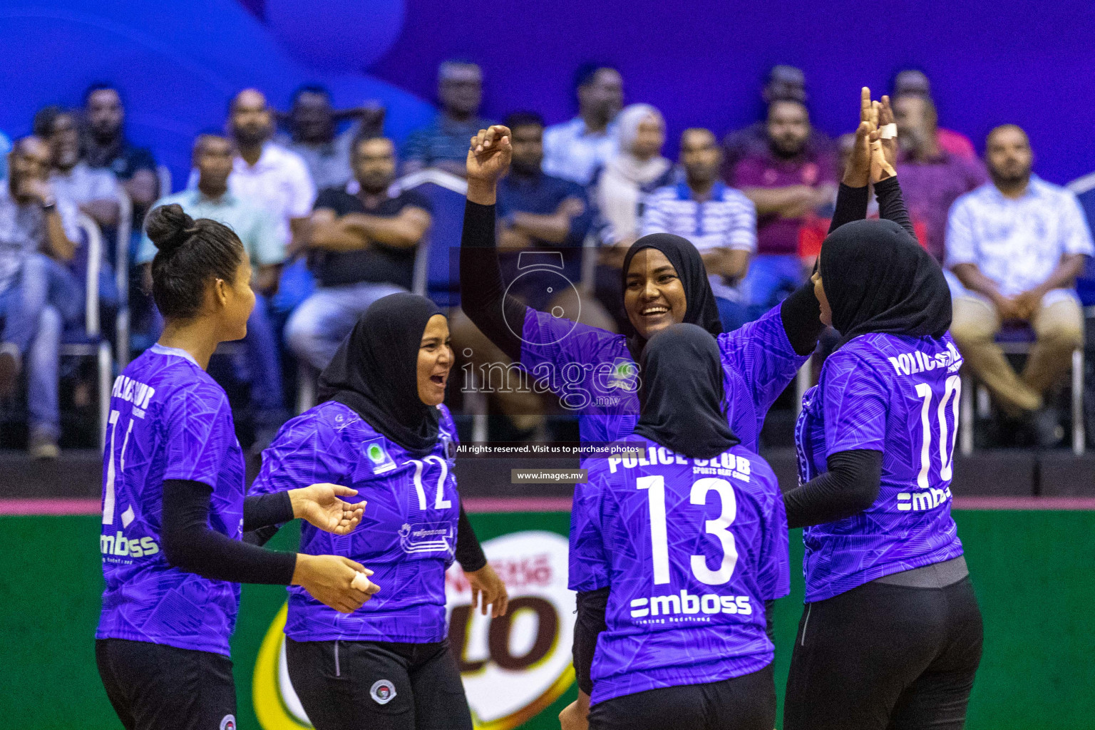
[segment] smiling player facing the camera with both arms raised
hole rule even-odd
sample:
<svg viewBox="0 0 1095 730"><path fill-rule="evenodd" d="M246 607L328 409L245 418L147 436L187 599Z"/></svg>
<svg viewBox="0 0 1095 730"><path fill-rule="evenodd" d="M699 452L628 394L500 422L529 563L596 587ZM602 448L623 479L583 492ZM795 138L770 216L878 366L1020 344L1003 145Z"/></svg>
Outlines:
<svg viewBox="0 0 1095 730"><path fill-rule="evenodd" d="M830 230L866 217L867 176L874 131L869 91L861 96L861 125L852 163L840 187ZM624 337L527 308L505 293L495 241L495 193L509 166L509 130L493 126L472 139L468 152L468 207L460 248L461 304L495 345L579 412L584 442L625 437L638 418L635 368L643 345L670 324L696 324L717 335L725 371L727 419L756 450L764 416L817 345L823 328L811 282L757 322L719 334L707 273L687 240L659 233L632 244L623 267L624 310L635 335ZM877 190L883 217L900 189Z"/></svg>

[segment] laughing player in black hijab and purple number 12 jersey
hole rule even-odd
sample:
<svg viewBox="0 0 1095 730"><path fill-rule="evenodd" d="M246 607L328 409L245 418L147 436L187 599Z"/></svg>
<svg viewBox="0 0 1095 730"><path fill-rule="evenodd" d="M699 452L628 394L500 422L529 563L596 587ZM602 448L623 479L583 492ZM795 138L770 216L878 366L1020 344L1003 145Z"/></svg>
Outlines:
<svg viewBox="0 0 1095 730"><path fill-rule="evenodd" d="M383 590L339 615L290 589L289 676L319 730L470 730L471 714L446 639L445 571L454 557L505 613L505 587L479 551L458 545L457 429L441 404L452 367L448 320L428 299L373 303L320 375L323 403L290 420L263 452L253 489L313 482L368 500L361 529L332 537L309 526L307 553L365 560ZM461 543L474 533L461 525ZM476 570L477 568L477 570ZM476 575L477 573L477 575Z"/></svg>

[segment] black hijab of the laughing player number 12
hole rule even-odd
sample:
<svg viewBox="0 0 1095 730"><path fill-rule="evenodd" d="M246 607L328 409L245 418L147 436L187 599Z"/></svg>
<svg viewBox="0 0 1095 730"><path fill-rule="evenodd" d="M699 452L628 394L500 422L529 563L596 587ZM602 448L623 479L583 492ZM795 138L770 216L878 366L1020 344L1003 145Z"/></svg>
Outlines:
<svg viewBox="0 0 1095 730"><path fill-rule="evenodd" d="M389 294L366 310L320 373L320 402L337 401L414 456L437 443L440 414L418 397L418 348L442 314L417 294Z"/></svg>

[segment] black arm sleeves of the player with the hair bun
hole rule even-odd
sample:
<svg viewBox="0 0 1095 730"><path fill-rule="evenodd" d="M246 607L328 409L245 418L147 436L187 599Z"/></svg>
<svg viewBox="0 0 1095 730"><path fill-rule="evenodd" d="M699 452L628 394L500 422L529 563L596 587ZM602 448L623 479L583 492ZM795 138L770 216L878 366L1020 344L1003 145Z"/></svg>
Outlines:
<svg viewBox="0 0 1095 730"><path fill-rule="evenodd" d="M244 500L244 526L265 526L266 520L288 522L292 506L288 493ZM277 553L250 542L232 540L209 528L212 487L200 482L163 483L161 540L168 563L203 578L235 583L288 586L297 568L295 553ZM269 497L269 498L267 498ZM249 508L250 506L250 508ZM288 511L286 511L288 510Z"/></svg>

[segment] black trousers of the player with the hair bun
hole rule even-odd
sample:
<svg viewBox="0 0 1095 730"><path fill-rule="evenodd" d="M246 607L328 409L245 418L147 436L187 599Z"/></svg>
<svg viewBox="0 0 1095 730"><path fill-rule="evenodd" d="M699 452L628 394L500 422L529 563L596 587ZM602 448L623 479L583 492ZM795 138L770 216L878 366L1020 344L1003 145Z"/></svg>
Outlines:
<svg viewBox="0 0 1095 730"><path fill-rule="evenodd" d="M126 730L237 730L232 660L223 654L96 639L95 663Z"/></svg>

